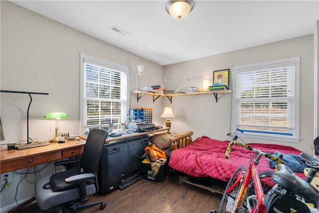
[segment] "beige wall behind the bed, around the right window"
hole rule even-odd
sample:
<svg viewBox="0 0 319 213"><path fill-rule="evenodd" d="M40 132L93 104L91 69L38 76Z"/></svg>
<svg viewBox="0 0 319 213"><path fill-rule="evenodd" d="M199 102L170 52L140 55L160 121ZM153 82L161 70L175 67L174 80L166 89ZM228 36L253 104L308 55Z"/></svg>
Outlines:
<svg viewBox="0 0 319 213"><path fill-rule="evenodd" d="M187 91L188 87L202 87L203 79L210 79L214 70L231 69L234 66L248 65L285 58L300 57L300 143L265 141L242 138L247 143L276 143L292 146L312 153L314 132L314 35L292 38L219 55L208 56L183 63L164 66L163 77L166 88ZM208 75L208 76L206 76ZM232 73L230 71L230 77ZM230 79L230 85L231 85ZM230 86L230 89L231 86ZM230 132L231 94L218 95L215 103L211 95L174 97L171 107L176 118L172 120L172 131L194 131L194 138L206 135L218 140L226 140ZM168 101L165 100L164 104Z"/></svg>

